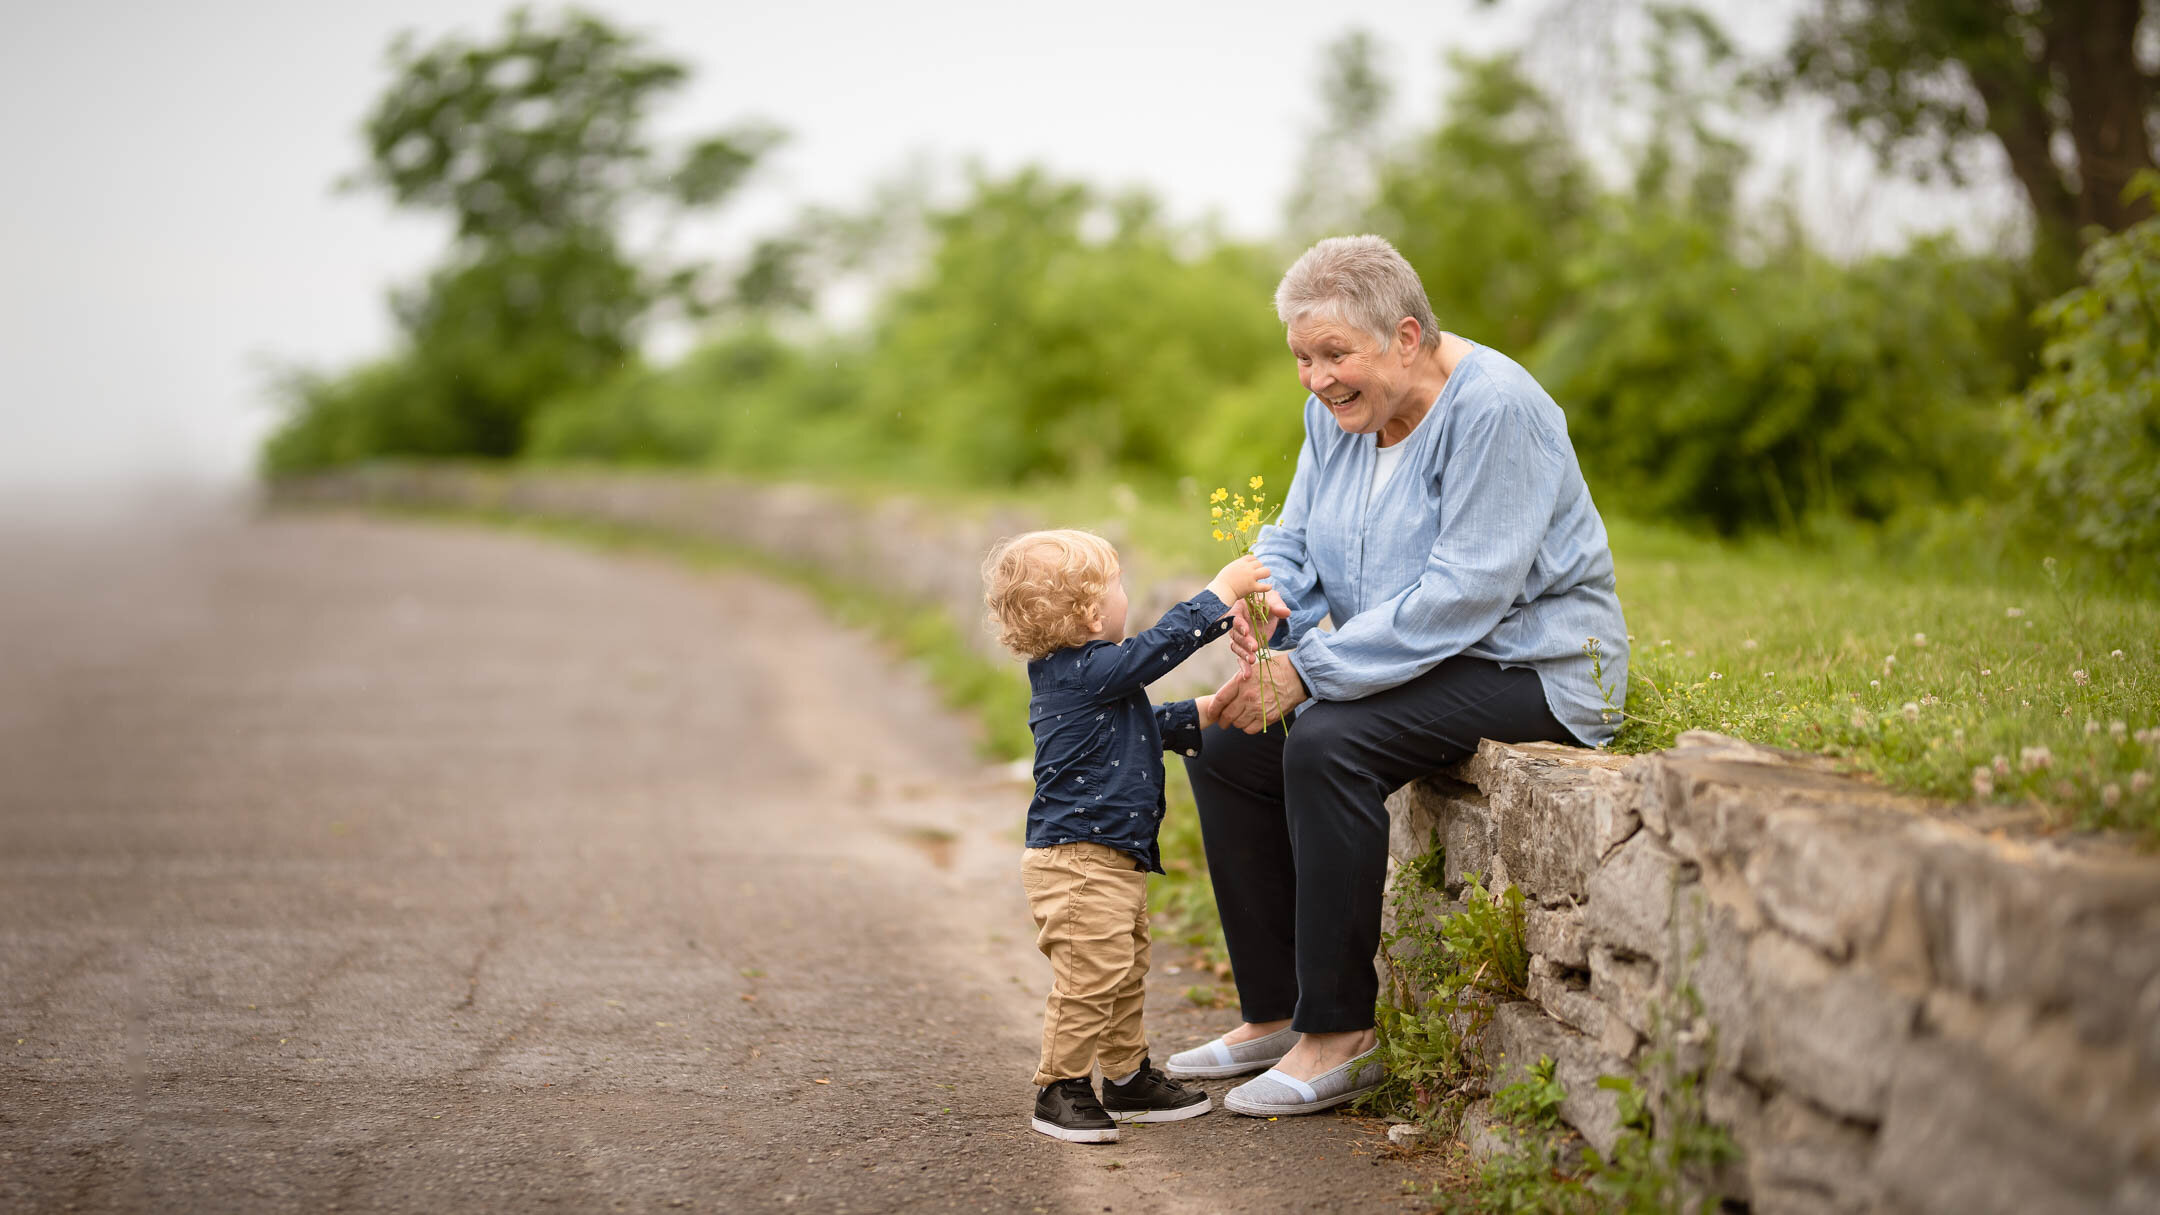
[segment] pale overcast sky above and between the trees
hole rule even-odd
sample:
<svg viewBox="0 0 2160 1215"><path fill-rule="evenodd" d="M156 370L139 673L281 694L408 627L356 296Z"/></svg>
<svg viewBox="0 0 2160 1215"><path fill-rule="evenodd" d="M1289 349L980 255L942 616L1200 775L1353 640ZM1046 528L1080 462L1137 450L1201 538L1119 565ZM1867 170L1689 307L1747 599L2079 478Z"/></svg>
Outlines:
<svg viewBox="0 0 2160 1215"><path fill-rule="evenodd" d="M1793 0L1726 0L1776 37ZM1270 233L1318 119L1322 48L1376 32L1395 125L1432 121L1449 48L1518 43L1540 9L1471 0L1182 4L795 0L590 4L696 67L661 125L760 117L791 138L717 238L847 205L914 156L1145 184L1173 216ZM501 2L11 4L0 43L0 489L246 476L268 368L389 344L382 296L443 229L330 184L361 158L382 50L492 32ZM1799 125L1769 141L1819 216L1866 231L2000 218L2002 195L1873 184ZM1832 218L1832 229L1842 221Z"/></svg>

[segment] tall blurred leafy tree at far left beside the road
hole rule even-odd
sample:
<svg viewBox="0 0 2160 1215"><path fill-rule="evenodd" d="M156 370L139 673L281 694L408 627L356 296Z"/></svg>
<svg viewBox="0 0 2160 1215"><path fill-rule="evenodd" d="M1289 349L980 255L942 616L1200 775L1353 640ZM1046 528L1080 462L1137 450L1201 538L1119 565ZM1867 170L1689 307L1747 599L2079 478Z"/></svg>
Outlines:
<svg viewBox="0 0 2160 1215"><path fill-rule="evenodd" d="M402 35L389 65L365 121L369 160L346 186L445 214L451 246L426 283L395 292L395 359L289 383L272 471L516 454L546 400L633 361L654 309L726 298L704 266L629 251L629 214L719 203L778 138L739 128L665 153L648 119L687 69L577 11L518 9L488 41ZM393 378L395 402L382 391Z"/></svg>

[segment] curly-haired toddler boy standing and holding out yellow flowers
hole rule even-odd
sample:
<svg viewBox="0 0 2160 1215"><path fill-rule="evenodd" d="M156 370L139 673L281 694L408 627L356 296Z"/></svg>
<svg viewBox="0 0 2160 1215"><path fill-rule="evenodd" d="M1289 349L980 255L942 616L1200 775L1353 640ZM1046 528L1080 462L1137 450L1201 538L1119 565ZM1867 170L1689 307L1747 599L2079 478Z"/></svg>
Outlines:
<svg viewBox="0 0 2160 1215"><path fill-rule="evenodd" d="M1266 579L1259 558L1238 558L1128 640L1117 549L1102 536L1028 532L983 562L998 642L1028 659L1035 800L1020 880L1054 975L1035 1070L1032 1126L1043 1135L1115 1144L1119 1122L1210 1109L1205 1092L1147 1055L1147 876L1162 871L1162 752L1199 752L1216 696L1233 694L1248 664L1197 700L1149 705L1145 685L1231 629L1248 636L1231 605ZM1097 1064L1099 1100L1089 1081Z"/></svg>

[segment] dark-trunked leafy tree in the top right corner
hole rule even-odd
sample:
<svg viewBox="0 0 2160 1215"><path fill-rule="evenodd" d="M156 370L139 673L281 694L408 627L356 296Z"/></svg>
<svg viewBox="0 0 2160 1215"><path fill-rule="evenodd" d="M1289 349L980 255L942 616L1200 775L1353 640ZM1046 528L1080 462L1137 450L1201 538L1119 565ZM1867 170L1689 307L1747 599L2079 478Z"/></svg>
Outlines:
<svg viewBox="0 0 2160 1215"><path fill-rule="evenodd" d="M2138 58L2154 0L1817 0L1771 93L1817 91L1886 164L1961 179L1992 141L2063 264L2084 225L2151 214L2125 195L2154 166L2160 76Z"/></svg>

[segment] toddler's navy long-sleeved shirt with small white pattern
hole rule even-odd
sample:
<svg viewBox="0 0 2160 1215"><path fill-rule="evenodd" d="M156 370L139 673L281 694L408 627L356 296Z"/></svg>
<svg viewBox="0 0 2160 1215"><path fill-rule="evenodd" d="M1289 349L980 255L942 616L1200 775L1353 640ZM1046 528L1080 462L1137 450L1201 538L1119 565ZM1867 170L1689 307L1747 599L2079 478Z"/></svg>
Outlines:
<svg viewBox="0 0 2160 1215"><path fill-rule="evenodd" d="M1028 664L1028 847L1102 843L1162 873L1162 752L1199 755L1201 726L1192 700L1149 705L1145 687L1229 629L1229 605L1201 590L1145 633Z"/></svg>

